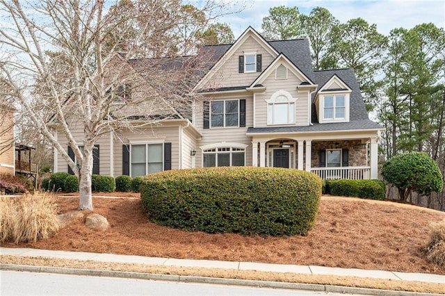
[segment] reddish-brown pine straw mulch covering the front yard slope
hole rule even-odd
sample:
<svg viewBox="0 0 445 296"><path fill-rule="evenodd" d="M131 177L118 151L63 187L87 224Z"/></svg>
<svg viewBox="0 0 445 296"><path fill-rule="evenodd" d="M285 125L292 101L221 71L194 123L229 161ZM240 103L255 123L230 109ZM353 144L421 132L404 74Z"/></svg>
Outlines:
<svg viewBox="0 0 445 296"><path fill-rule="evenodd" d="M147 220L136 196L93 198L94 212L107 217L109 231L92 231L78 221L47 240L2 245L445 274L445 266L428 263L421 252L428 243L430 222L443 220L443 212L393 202L322 197L316 226L307 236L262 238L161 227ZM58 197L57 203L60 213L66 213L76 211L79 200Z"/></svg>

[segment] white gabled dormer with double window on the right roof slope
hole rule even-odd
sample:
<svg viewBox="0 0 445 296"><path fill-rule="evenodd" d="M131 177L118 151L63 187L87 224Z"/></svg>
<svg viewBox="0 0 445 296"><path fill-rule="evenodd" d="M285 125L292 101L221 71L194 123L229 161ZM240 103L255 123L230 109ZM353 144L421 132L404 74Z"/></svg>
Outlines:
<svg viewBox="0 0 445 296"><path fill-rule="evenodd" d="M349 86L334 74L317 92L315 107L318 122L349 122L351 92Z"/></svg>

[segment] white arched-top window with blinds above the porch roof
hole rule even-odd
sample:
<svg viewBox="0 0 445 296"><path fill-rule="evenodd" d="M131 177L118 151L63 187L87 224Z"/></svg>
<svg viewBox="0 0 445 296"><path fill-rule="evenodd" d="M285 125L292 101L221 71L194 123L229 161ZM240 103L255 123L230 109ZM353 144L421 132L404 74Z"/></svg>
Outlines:
<svg viewBox="0 0 445 296"><path fill-rule="evenodd" d="M266 99L268 124L293 124L295 123L295 102L289 92L279 90L270 99Z"/></svg>

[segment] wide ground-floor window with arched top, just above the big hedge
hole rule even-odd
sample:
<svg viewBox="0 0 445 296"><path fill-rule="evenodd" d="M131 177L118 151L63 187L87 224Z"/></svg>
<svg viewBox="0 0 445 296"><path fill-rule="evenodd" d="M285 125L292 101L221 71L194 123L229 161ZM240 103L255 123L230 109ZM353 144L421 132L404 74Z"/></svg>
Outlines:
<svg viewBox="0 0 445 296"><path fill-rule="evenodd" d="M240 167L244 165L244 148L218 147L202 151L203 167Z"/></svg>

